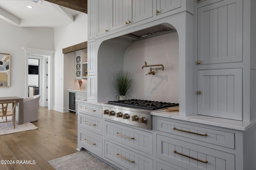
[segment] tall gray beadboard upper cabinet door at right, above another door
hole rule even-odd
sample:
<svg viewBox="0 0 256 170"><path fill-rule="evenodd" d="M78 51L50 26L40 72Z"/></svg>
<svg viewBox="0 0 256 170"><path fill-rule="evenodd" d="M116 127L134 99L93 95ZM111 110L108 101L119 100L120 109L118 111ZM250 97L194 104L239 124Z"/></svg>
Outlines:
<svg viewBox="0 0 256 170"><path fill-rule="evenodd" d="M200 64L242 61L242 2L224 0L198 8Z"/></svg>

